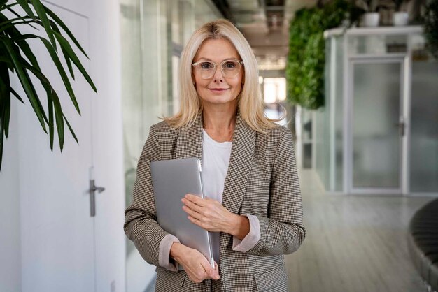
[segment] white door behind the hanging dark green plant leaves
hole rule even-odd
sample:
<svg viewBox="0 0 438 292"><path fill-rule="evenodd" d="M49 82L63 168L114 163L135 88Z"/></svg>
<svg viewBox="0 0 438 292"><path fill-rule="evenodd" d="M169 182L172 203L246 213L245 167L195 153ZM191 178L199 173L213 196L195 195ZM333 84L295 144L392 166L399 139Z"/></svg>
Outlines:
<svg viewBox="0 0 438 292"><path fill-rule="evenodd" d="M45 3L71 28L78 41L89 48L88 22L83 15ZM89 168L92 166L91 98L76 71L73 89L81 116L69 101L48 52L39 41L31 43L43 73L52 80L64 113L75 129L79 145L65 126L62 153L55 138L50 152L48 136L41 131L30 106L20 115L20 169L22 194L23 291L94 291L94 218L90 217ZM79 55L79 54L78 54ZM80 55L79 55L80 56ZM80 57L85 68L90 61ZM37 88L41 100L45 92ZM22 123L21 123L22 121ZM31 147L29 147L31 146Z"/></svg>

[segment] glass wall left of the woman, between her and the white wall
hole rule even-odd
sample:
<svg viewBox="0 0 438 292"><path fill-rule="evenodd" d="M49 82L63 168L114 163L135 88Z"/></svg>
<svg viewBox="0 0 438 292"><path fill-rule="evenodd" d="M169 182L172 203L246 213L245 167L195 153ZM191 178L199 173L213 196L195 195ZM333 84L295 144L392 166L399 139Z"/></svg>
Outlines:
<svg viewBox="0 0 438 292"><path fill-rule="evenodd" d="M177 68L197 26L222 17L210 0L120 0L126 205L152 124L178 110ZM145 291L155 267L127 240L127 291Z"/></svg>

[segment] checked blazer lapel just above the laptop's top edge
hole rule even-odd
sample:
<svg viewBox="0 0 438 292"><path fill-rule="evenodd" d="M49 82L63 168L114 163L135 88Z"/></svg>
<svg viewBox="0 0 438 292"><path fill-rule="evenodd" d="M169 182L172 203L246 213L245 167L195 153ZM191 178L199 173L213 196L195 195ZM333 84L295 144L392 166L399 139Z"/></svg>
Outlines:
<svg viewBox="0 0 438 292"><path fill-rule="evenodd" d="M195 157L202 160L202 114L199 113L195 122L189 127L178 130L176 139L175 158Z"/></svg>

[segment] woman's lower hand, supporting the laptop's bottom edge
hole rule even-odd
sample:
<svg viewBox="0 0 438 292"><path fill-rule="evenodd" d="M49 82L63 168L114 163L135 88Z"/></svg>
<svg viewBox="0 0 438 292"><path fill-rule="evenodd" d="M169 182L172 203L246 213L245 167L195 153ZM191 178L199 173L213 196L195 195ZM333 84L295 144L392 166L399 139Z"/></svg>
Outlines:
<svg viewBox="0 0 438 292"><path fill-rule="evenodd" d="M170 256L183 266L188 277L195 283L201 283L205 279L219 279L218 264L215 262L215 268L211 268L206 257L196 249L174 242L170 248Z"/></svg>

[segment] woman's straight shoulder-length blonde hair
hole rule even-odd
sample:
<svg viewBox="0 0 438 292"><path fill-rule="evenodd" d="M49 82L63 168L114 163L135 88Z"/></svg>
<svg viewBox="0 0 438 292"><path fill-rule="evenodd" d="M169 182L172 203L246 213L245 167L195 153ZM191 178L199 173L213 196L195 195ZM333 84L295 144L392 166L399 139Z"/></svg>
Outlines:
<svg viewBox="0 0 438 292"><path fill-rule="evenodd" d="M258 84L257 60L253 50L241 32L228 20L208 22L197 29L181 54L179 66L178 94L181 98L179 112L164 120L175 128L190 125L202 113L202 102L192 82L192 61L202 43L208 39L225 38L234 45L243 61L244 84L238 96L242 119L255 131L265 133L279 119L264 116L262 96Z"/></svg>

